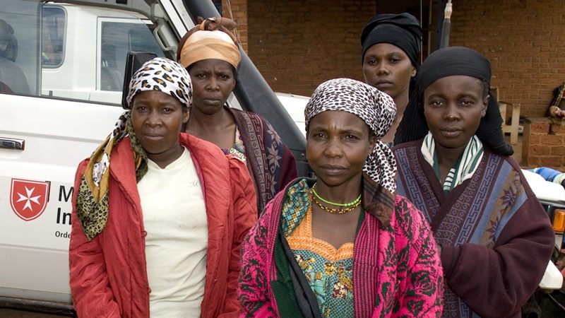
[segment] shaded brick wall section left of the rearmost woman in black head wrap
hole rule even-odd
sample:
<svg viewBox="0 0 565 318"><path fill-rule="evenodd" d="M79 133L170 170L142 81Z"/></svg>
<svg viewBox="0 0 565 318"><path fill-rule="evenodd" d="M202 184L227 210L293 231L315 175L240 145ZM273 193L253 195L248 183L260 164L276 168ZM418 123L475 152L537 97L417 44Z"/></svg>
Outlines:
<svg viewBox="0 0 565 318"><path fill-rule="evenodd" d="M247 2L249 57L273 90L311 95L329 78L363 80L359 35L374 0Z"/></svg>

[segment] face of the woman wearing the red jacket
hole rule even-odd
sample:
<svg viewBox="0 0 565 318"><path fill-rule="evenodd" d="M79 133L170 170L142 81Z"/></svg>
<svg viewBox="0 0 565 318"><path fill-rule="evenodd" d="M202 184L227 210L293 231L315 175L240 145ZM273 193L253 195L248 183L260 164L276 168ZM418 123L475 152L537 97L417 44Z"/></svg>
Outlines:
<svg viewBox="0 0 565 318"><path fill-rule="evenodd" d="M157 90L145 90L133 98L131 122L149 159L169 159L179 149L181 126L189 120L188 107Z"/></svg>

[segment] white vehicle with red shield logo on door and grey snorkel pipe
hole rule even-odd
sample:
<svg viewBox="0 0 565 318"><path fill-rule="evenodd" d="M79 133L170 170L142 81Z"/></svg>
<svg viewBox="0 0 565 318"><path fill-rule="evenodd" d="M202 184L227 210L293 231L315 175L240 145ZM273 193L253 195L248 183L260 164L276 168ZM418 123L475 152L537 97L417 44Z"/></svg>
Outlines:
<svg viewBox="0 0 565 318"><path fill-rule="evenodd" d="M72 310L74 174L124 111L126 53L175 59L191 17L217 15L203 0L0 0L0 306ZM277 118L304 158L304 137L245 55L237 81L239 104Z"/></svg>

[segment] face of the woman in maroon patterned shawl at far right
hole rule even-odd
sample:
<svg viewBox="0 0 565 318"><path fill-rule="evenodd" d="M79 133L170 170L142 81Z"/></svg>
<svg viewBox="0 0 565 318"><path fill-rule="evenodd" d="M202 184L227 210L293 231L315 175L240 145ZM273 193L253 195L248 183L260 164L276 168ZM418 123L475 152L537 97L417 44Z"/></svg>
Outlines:
<svg viewBox="0 0 565 318"><path fill-rule="evenodd" d="M424 90L424 117L443 148L467 146L487 111L482 81L471 76L446 76Z"/></svg>

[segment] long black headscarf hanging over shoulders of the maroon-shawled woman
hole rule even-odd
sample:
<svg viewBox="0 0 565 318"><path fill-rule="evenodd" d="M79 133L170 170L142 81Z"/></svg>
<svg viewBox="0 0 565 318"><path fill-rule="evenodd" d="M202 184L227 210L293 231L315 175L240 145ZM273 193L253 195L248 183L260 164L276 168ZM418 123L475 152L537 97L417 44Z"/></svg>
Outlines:
<svg viewBox="0 0 565 318"><path fill-rule="evenodd" d="M432 83L446 76L465 75L478 78L490 87L490 62L479 52L467 47L446 47L432 53L420 66L416 75L416 87L410 95L408 107L398 129L394 143L396 145L424 138L428 125L424 117L422 100L424 90ZM480 141L499 155L512 155L512 147L504 140L502 117L496 98L489 92L489 105L482 117L475 135Z"/></svg>

